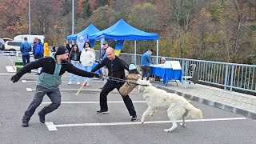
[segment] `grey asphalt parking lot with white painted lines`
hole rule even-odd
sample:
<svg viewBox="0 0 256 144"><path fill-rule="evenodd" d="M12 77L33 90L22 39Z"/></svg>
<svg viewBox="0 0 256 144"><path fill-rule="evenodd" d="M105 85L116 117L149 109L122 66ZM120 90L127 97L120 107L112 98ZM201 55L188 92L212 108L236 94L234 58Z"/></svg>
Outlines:
<svg viewBox="0 0 256 144"><path fill-rule="evenodd" d="M69 74L62 76L62 105L46 115L46 124L38 120L38 111L50 99L45 96L30 119L29 127L21 126L21 118L34 98L36 74L25 74L15 84L10 81L12 66L18 57L0 56L0 141L1 143L254 143L255 120L220 110L198 102L191 102L202 110L203 119L188 118L186 127L178 126L171 133L164 132L171 123L166 110L147 117L145 124L131 122L118 91L108 97L109 114L97 114L102 81L94 80L76 96L80 86L67 85ZM20 58L21 59L21 58ZM31 58L32 59L32 58ZM32 90L32 91L30 91ZM146 110L142 95L130 94L138 118Z"/></svg>

